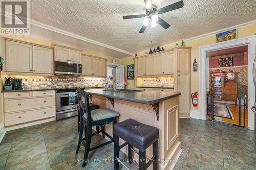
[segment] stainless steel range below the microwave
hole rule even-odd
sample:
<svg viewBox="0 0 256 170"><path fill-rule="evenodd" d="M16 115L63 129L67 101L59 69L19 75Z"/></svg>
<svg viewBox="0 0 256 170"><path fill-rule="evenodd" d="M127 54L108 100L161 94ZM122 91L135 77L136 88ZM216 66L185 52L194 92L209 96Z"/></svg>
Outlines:
<svg viewBox="0 0 256 170"><path fill-rule="evenodd" d="M57 120L76 116L77 104L76 88L56 88Z"/></svg>

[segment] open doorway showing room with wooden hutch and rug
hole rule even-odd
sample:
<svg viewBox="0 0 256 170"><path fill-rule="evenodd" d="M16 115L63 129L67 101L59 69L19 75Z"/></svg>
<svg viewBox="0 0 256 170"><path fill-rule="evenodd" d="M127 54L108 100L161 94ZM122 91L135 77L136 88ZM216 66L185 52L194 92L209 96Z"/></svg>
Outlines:
<svg viewBox="0 0 256 170"><path fill-rule="evenodd" d="M248 127L248 45L206 52L206 60L206 119Z"/></svg>

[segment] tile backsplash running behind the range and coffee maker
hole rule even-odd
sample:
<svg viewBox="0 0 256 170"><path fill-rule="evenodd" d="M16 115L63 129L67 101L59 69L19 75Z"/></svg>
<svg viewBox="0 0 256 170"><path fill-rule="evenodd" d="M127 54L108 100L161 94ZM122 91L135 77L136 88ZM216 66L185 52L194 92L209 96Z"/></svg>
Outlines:
<svg viewBox="0 0 256 170"><path fill-rule="evenodd" d="M26 75L5 75L5 77L22 78L22 82L28 83L28 88L42 88L51 82L51 87L96 87L105 84L105 78L76 77L66 75L55 76L26 76Z"/></svg>

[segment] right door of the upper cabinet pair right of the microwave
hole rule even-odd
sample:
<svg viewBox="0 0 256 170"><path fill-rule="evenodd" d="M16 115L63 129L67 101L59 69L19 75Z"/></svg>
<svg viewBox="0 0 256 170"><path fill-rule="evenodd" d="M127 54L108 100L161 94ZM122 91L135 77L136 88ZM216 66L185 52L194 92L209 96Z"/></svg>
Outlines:
<svg viewBox="0 0 256 170"><path fill-rule="evenodd" d="M101 58L93 58L93 76L104 77L106 72L106 61Z"/></svg>

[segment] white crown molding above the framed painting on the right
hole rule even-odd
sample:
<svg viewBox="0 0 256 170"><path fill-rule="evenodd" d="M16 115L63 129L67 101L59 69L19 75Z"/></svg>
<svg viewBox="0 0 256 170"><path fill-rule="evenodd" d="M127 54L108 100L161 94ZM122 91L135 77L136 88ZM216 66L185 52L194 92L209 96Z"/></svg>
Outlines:
<svg viewBox="0 0 256 170"><path fill-rule="evenodd" d="M216 34L216 33L219 33L219 32L225 31L225 30L229 30L229 29L233 29L233 28L243 28L243 27L247 27L247 26L253 25L255 23L256 23L256 20L251 20L249 22L241 23L240 25L236 25L236 26L232 26L232 27L227 27L227 28L224 28L224 29L221 29L221 30L209 32L209 33L202 34L202 35L195 36L195 37L191 37L191 38L187 38L187 39L184 39L184 41L186 41L186 42L187 41L193 41L193 40L200 39L200 38L203 38L203 37L207 37L207 36L210 36L212 34ZM176 42L173 42L173 43L170 43L170 44L163 45L162 47L165 48L165 47L169 47L169 46L175 46L176 43L181 43L181 42L182 42L182 40L181 41L176 41ZM144 55L144 53L145 52L142 51L142 52L137 53L137 55Z"/></svg>

